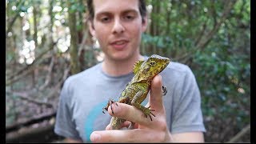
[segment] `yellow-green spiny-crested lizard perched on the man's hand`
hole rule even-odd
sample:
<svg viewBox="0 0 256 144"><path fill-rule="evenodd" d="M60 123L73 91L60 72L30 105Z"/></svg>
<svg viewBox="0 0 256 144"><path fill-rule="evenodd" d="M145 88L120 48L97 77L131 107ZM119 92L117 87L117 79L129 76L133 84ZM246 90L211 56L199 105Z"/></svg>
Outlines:
<svg viewBox="0 0 256 144"><path fill-rule="evenodd" d="M142 106L141 103L146 99L146 96L150 91L151 81L154 78L154 76L162 72L162 70L164 70L169 63L169 58L165 58L157 54L151 55L145 61L139 60L138 62L135 62L133 66L134 77L126 85L126 88L122 91L122 94L118 98L118 102L135 106L145 114L146 118L147 116L149 116L150 120L152 121L151 115L153 115L154 117L155 115L151 111L154 110L150 110L150 106ZM167 93L166 87L162 86L162 90L163 95L165 95ZM104 109L108 110L108 107L110 106L112 114L114 114L114 111L111 106L112 103L116 102L114 102L113 100L109 100L106 107L103 108L102 112L104 113ZM117 103L116 105L118 106ZM122 123L125 121L126 119L112 117L110 121L110 129L121 129ZM133 122L132 125L134 125Z"/></svg>

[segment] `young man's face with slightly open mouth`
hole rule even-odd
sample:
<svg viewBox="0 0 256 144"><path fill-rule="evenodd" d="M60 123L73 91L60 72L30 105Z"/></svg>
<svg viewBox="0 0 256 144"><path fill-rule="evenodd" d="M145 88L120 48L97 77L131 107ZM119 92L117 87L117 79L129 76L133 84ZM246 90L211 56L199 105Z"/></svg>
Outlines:
<svg viewBox="0 0 256 144"><path fill-rule="evenodd" d="M90 33L98 39L106 58L126 60L138 54L142 32L138 0L94 0L94 19Z"/></svg>

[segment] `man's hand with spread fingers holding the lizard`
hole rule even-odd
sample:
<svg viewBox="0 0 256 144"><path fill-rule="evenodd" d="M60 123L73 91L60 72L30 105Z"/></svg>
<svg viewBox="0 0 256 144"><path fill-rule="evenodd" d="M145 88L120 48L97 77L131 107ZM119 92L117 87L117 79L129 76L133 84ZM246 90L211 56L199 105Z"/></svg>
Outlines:
<svg viewBox="0 0 256 144"><path fill-rule="evenodd" d="M124 118L128 121L123 126L129 126L130 122L135 122L133 130L110 130L110 125L106 130L94 131L90 135L92 142L171 142L170 131L166 123L166 112L162 103L162 77L157 75L151 82L150 98L147 106L155 110L153 121L141 110L134 106L118 103L112 104L114 114L110 110L110 115ZM129 122L130 121L130 122Z"/></svg>

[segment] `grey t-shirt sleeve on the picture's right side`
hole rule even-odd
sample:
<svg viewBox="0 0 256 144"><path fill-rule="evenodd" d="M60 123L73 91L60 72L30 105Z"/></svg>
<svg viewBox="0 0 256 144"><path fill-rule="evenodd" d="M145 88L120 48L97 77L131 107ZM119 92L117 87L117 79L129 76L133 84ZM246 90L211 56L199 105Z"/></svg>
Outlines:
<svg viewBox="0 0 256 144"><path fill-rule="evenodd" d="M202 120L201 94L198 84L188 66L186 66L185 72L183 82L180 82L175 87L174 119L170 132L205 132L206 129Z"/></svg>

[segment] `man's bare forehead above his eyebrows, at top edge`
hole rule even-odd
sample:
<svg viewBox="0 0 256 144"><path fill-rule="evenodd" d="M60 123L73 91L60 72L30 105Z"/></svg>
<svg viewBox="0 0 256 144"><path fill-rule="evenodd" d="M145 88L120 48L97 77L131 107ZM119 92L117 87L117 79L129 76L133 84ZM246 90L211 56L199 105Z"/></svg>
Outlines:
<svg viewBox="0 0 256 144"><path fill-rule="evenodd" d="M118 13L126 10L138 11L138 0L94 0L94 14Z"/></svg>

